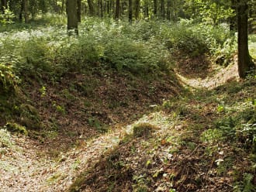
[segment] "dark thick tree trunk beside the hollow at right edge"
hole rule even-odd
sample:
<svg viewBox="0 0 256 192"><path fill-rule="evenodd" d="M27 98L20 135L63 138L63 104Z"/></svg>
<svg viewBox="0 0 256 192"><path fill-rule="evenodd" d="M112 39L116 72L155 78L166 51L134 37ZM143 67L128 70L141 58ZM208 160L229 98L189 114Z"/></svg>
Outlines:
<svg viewBox="0 0 256 192"><path fill-rule="evenodd" d="M248 5L245 0L237 1L237 28L238 28L238 74L244 78L248 70L254 67L248 50Z"/></svg>

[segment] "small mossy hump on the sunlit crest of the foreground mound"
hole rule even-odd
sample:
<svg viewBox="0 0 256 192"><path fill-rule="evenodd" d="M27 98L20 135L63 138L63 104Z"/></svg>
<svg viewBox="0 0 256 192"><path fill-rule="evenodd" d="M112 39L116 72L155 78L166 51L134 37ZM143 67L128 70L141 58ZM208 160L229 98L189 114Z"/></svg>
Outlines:
<svg viewBox="0 0 256 192"><path fill-rule="evenodd" d="M157 129L159 129L157 126L155 125L151 125L150 123L147 122L142 122L139 123L137 125L133 126L133 136L134 137L147 137L148 135L150 135L152 132L156 131Z"/></svg>

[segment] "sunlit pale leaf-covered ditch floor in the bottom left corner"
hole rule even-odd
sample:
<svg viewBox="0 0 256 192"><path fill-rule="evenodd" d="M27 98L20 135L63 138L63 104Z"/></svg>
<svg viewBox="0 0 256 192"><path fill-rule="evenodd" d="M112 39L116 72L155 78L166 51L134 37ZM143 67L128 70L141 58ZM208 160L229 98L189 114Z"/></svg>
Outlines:
<svg viewBox="0 0 256 192"><path fill-rule="evenodd" d="M130 130L126 130L130 131ZM116 146L123 129L114 129L63 153L58 160L40 156L38 143L10 136L13 147L1 156L0 191L66 191L74 178L95 163L106 150Z"/></svg>

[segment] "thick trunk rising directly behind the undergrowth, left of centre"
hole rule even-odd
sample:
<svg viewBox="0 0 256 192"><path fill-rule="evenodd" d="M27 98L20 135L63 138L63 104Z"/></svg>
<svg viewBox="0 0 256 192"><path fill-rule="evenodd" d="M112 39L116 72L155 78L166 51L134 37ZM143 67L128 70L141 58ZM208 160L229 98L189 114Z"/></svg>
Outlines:
<svg viewBox="0 0 256 192"><path fill-rule="evenodd" d="M75 0L67 0L67 30L73 30L78 35L78 5ZM69 33L70 34L70 33Z"/></svg>

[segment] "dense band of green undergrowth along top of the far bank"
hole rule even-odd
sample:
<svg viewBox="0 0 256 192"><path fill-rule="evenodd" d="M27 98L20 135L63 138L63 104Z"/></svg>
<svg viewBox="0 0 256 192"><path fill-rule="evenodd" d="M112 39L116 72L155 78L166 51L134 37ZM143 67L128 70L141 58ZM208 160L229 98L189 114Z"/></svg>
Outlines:
<svg viewBox="0 0 256 192"><path fill-rule="evenodd" d="M227 64L236 44L227 26L190 20L130 25L88 18L79 29L78 37L67 36L65 26L2 33L0 61L13 63L16 74L49 77L52 81L69 72L92 68L152 76L170 73L175 63L170 51L189 57L211 55L216 62Z"/></svg>

